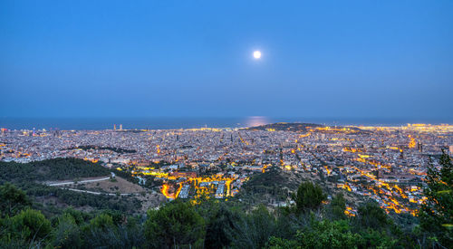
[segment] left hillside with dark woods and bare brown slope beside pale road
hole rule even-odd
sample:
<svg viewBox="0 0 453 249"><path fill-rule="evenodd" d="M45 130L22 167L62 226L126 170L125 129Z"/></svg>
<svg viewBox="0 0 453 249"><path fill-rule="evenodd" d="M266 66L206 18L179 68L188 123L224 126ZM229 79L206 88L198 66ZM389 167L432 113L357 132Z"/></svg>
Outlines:
<svg viewBox="0 0 453 249"><path fill-rule="evenodd" d="M48 182L81 181L93 177L110 177L111 170L99 163L77 158L55 158L30 163L0 162L0 184L11 182L21 187L29 196L34 197L35 205L45 213L58 212L61 208L72 206L91 211L113 209L128 213L140 212L142 206L157 206L161 201L159 194L146 194L142 187L120 178L114 181L93 182L70 186L47 186ZM99 183L99 185L98 185ZM105 189L101 195L76 192L72 189ZM98 189L99 190L99 189ZM97 192L97 191L94 191ZM109 193L115 195L109 196ZM134 195L116 195L131 194Z"/></svg>

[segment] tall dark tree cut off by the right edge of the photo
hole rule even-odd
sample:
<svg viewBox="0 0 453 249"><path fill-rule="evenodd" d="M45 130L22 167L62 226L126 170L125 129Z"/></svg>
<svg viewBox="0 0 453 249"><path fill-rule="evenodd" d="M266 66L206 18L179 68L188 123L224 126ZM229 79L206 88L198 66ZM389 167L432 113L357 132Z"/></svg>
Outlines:
<svg viewBox="0 0 453 249"><path fill-rule="evenodd" d="M453 244L453 164L442 151L440 169L429 166L423 194L426 201L419 209L421 228L439 245Z"/></svg>

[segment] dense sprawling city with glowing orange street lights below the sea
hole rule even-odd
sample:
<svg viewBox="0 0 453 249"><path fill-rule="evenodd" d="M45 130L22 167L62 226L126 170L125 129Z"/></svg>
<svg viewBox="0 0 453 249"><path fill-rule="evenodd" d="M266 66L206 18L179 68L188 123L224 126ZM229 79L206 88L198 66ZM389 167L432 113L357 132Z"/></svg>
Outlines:
<svg viewBox="0 0 453 249"><path fill-rule="evenodd" d="M140 184L152 176L169 200L226 199L253 174L277 167L322 179L376 200L387 212L416 215L427 165L453 153L453 126L328 127L277 123L247 129L1 129L1 160L26 163L82 158L128 170ZM214 172L214 173L213 173ZM207 174L209 173L209 174ZM277 203L285 206L290 199ZM348 204L345 213L356 214Z"/></svg>

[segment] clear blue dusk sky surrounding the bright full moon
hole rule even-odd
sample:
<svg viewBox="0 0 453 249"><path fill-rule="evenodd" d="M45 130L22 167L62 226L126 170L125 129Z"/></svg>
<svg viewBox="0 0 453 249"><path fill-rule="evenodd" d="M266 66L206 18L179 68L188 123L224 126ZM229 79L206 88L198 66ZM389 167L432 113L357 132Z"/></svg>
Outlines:
<svg viewBox="0 0 453 249"><path fill-rule="evenodd" d="M453 120L452 13L448 0L3 0L0 117Z"/></svg>

